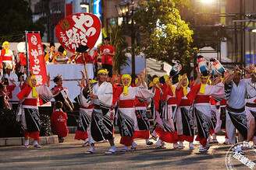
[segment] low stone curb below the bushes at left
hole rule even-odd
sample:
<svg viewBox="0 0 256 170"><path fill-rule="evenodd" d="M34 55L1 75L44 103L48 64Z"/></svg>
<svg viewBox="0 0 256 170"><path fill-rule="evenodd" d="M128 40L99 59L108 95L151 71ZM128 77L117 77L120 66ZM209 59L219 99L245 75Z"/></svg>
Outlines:
<svg viewBox="0 0 256 170"><path fill-rule="evenodd" d="M20 146L24 144L24 137L5 137L0 138L0 147L5 146ZM29 138L29 144L32 145L34 141ZM57 135L51 135L49 137L40 137L38 144L58 144L59 139Z"/></svg>

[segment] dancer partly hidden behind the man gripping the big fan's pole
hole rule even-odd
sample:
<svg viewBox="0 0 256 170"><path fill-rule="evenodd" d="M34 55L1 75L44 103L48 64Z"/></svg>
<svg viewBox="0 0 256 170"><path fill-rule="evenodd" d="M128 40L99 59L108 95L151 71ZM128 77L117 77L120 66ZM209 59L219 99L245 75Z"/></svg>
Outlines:
<svg viewBox="0 0 256 170"><path fill-rule="evenodd" d="M89 134L90 132L90 125L91 125L91 113L94 108L94 105L91 104L91 100L88 100L86 97L86 93L84 93L84 81L85 76L84 72L81 71L82 74L82 80L81 83L78 81L78 85L81 88L80 95L78 95L74 100L80 105L80 111L79 111L79 118L78 118L78 124L77 124L77 130L76 130L76 140L83 140L84 144L82 147L89 146ZM95 81L96 82L96 81ZM91 81L91 83L94 83ZM88 134L89 132L89 134Z"/></svg>

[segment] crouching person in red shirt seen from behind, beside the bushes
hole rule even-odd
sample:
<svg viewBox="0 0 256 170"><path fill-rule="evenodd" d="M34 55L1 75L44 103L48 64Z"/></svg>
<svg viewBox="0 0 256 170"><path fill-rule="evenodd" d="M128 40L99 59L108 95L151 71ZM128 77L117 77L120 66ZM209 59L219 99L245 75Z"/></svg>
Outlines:
<svg viewBox="0 0 256 170"><path fill-rule="evenodd" d="M68 127L66 126L67 116L62 111L62 102L55 102L55 112L51 116L52 133L57 134L59 143L64 141L64 137L69 134Z"/></svg>

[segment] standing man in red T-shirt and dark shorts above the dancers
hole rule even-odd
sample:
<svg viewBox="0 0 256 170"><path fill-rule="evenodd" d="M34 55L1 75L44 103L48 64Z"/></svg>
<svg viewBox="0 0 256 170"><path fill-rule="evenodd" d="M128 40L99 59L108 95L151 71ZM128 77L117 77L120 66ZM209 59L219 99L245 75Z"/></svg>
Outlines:
<svg viewBox="0 0 256 170"><path fill-rule="evenodd" d="M104 43L105 45L101 46L101 64L102 68L106 68L108 70L108 78L111 80L112 78L112 68L113 68L113 57L115 55L115 49L110 44L110 39L105 37Z"/></svg>

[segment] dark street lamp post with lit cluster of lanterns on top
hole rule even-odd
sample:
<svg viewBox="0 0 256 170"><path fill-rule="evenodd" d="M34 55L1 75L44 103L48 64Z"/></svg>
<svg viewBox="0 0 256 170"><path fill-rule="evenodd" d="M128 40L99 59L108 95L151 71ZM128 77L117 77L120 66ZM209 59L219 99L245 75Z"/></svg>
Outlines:
<svg viewBox="0 0 256 170"><path fill-rule="evenodd" d="M133 0L125 1L116 5L116 10L120 17L123 17L123 26L128 26L131 31L131 54L132 54L132 78L135 78L135 53L134 53L134 42L135 42L135 30L133 21L134 3ZM129 22L131 19L131 23Z"/></svg>

